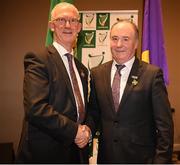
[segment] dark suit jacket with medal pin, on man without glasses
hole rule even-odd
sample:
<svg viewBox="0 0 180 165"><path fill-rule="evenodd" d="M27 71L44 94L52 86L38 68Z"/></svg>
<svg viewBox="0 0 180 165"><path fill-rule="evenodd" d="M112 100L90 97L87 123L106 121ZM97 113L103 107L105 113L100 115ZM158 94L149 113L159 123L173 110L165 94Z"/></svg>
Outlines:
<svg viewBox="0 0 180 165"><path fill-rule="evenodd" d="M100 120L98 163L170 163L173 122L162 71L136 58L116 113L111 66L91 71L89 108L95 123Z"/></svg>

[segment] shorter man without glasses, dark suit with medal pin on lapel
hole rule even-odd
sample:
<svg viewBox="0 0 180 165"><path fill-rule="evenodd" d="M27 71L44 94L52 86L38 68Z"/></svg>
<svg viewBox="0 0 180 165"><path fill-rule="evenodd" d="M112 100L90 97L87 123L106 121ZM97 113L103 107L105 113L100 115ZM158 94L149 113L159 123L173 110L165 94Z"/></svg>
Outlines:
<svg viewBox="0 0 180 165"><path fill-rule="evenodd" d="M135 56L138 29L130 21L112 26L110 46L113 60L91 70L98 163L171 163L173 121L161 69Z"/></svg>

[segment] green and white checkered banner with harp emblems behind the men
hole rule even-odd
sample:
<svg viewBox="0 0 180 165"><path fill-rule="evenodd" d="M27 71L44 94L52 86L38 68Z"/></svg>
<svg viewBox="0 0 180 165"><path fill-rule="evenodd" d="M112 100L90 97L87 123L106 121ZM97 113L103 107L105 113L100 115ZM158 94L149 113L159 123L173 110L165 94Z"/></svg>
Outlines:
<svg viewBox="0 0 180 165"><path fill-rule="evenodd" d="M121 19L138 25L138 10L80 11L82 31L77 41L77 58L89 69L111 60L109 33Z"/></svg>

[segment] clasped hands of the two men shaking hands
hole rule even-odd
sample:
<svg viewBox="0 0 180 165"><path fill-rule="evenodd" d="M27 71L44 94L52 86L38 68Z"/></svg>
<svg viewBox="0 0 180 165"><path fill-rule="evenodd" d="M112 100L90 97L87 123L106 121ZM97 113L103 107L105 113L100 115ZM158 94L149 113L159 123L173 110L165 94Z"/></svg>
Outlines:
<svg viewBox="0 0 180 165"><path fill-rule="evenodd" d="M91 140L91 130L87 125L79 125L75 143L79 148L85 147Z"/></svg>

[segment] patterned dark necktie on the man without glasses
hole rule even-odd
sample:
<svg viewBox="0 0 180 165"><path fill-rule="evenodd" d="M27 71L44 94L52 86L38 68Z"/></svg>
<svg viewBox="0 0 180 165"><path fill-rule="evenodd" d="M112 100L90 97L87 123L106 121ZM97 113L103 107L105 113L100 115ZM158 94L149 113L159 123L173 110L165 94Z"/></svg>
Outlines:
<svg viewBox="0 0 180 165"><path fill-rule="evenodd" d="M114 100L115 111L117 112L119 107L119 97L120 97L120 82L121 82L121 69L125 67L125 65L117 65L117 70L114 75L113 83L112 83L112 95Z"/></svg>

